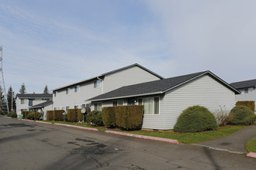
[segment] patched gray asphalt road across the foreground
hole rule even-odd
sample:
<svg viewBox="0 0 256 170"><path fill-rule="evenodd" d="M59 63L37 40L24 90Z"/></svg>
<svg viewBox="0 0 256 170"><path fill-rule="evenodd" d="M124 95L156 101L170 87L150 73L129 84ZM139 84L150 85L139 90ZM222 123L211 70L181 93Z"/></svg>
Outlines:
<svg viewBox="0 0 256 170"><path fill-rule="evenodd" d="M255 169L256 160L195 145L0 117L0 169Z"/></svg>

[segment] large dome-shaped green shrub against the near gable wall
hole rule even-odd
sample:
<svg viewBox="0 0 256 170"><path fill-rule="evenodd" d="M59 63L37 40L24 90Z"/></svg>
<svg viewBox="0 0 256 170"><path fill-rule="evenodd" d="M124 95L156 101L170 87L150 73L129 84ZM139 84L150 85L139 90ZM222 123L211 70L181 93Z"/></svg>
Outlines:
<svg viewBox="0 0 256 170"><path fill-rule="evenodd" d="M215 131L218 125L214 115L201 106L189 107L182 112L175 124L176 132Z"/></svg>

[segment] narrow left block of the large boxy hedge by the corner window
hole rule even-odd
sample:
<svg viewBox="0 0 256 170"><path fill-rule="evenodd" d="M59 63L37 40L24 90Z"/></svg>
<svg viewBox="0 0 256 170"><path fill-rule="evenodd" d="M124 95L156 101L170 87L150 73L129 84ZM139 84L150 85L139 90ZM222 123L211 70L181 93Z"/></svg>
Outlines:
<svg viewBox="0 0 256 170"><path fill-rule="evenodd" d="M113 128L116 126L115 107L102 108L102 121L107 127Z"/></svg>

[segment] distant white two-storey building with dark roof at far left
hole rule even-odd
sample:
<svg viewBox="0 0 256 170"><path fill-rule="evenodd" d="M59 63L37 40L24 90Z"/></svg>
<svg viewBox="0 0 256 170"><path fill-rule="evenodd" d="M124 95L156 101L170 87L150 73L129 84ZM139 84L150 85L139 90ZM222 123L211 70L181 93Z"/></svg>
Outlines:
<svg viewBox="0 0 256 170"><path fill-rule="evenodd" d="M42 104L47 100L53 100L52 93L17 93L16 110L19 116L22 111L28 111L29 107Z"/></svg>

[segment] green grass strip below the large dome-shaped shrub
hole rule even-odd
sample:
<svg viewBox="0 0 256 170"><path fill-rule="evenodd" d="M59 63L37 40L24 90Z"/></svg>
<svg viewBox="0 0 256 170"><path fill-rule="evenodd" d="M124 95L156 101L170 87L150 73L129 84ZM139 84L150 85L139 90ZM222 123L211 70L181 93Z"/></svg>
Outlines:
<svg viewBox="0 0 256 170"><path fill-rule="evenodd" d="M233 134L245 126L226 126L220 127L218 131L204 131L198 133L175 133L174 131L122 131L130 134L141 134L160 138L176 139L181 143L193 144L200 141L209 141L216 138L222 138L229 134Z"/></svg>

